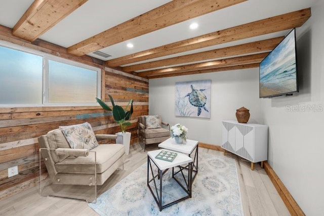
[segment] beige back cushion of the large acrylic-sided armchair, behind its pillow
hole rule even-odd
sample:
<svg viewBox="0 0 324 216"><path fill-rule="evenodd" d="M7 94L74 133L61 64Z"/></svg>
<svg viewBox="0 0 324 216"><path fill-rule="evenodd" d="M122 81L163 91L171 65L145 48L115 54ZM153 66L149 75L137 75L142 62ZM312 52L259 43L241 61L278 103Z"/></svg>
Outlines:
<svg viewBox="0 0 324 216"><path fill-rule="evenodd" d="M69 143L66 141L66 138L60 129L49 131L47 133L47 138L51 149L70 148ZM51 151L51 154L55 163L61 162L68 157L68 155L57 155L55 151Z"/></svg>

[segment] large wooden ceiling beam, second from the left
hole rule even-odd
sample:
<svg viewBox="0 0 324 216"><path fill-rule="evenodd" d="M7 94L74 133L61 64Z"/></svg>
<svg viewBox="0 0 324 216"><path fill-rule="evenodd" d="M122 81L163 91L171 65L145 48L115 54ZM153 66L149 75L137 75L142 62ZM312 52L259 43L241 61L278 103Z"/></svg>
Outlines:
<svg viewBox="0 0 324 216"><path fill-rule="evenodd" d="M67 48L82 56L247 0L174 0Z"/></svg>

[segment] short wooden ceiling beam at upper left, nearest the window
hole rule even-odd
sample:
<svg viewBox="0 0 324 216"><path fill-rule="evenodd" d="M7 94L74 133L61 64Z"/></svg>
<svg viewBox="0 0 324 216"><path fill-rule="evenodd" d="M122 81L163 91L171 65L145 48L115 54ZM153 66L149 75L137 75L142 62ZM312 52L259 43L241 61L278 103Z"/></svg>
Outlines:
<svg viewBox="0 0 324 216"><path fill-rule="evenodd" d="M35 0L15 24L12 34L33 42L88 0Z"/></svg>

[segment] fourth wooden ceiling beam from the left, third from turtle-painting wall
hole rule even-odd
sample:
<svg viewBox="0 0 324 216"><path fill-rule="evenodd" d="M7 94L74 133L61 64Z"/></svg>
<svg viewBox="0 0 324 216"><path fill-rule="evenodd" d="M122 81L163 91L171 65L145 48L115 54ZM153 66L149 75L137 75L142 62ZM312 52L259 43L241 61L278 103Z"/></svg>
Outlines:
<svg viewBox="0 0 324 216"><path fill-rule="evenodd" d="M122 67L122 68L124 71L130 72L130 71L149 69L154 67L193 62L193 61L201 61L201 60L208 60L208 59L215 59L215 58L224 58L224 57L235 56L235 55L270 51L273 48L275 48L282 39L284 39L284 37L278 37L278 38L268 39L268 40L263 40L258 42L251 42L251 43L236 45L232 47L225 47L216 50L178 56L174 58L167 58L167 59L143 63L143 64L135 64L135 65Z"/></svg>

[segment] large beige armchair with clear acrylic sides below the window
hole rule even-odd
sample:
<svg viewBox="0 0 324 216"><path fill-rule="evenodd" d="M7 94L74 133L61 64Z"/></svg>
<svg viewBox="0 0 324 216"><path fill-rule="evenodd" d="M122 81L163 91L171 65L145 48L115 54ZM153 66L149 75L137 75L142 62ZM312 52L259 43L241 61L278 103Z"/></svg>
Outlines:
<svg viewBox="0 0 324 216"><path fill-rule="evenodd" d="M91 126L90 129L92 131ZM66 130L65 132L69 135L70 131ZM96 145L92 146L92 149L87 149L86 144L85 148L82 148L83 143L81 143L81 147L78 143L78 147L71 148L71 142L65 135L62 129L54 129L46 135L38 137L41 147L39 149L41 195L85 199L88 202L94 202L97 198L97 185L104 184L118 167L123 166L124 168L125 147L120 144L99 145L97 139L116 139L117 136L93 133L93 137L95 137L93 141L96 142ZM85 135L85 143L91 140L91 136L84 134L83 131L77 132L78 140L83 140L80 137L83 135ZM76 146L76 141L72 142L72 145ZM42 169L44 169L42 159L48 175L42 173Z"/></svg>

